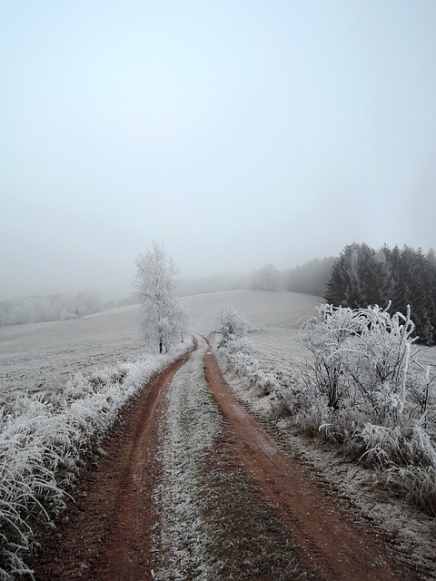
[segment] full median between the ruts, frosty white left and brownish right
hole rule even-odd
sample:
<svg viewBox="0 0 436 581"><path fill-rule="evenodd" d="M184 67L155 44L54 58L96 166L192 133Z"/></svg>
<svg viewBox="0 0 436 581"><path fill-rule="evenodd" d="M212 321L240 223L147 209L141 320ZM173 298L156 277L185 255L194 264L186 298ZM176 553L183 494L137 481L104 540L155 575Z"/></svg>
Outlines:
<svg viewBox="0 0 436 581"><path fill-rule="evenodd" d="M156 579L315 579L273 507L233 452L234 435L204 376L204 343L165 389L154 495Z"/></svg>

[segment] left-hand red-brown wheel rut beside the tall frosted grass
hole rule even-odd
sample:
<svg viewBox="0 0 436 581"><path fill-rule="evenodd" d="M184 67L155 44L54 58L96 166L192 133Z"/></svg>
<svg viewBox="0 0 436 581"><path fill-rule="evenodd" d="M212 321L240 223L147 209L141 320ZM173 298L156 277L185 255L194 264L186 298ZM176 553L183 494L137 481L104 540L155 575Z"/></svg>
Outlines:
<svg viewBox="0 0 436 581"><path fill-rule="evenodd" d="M143 389L125 409L104 445L98 466L88 468L45 550L36 556L37 581L127 581L150 578L152 494L162 393L198 343Z"/></svg>

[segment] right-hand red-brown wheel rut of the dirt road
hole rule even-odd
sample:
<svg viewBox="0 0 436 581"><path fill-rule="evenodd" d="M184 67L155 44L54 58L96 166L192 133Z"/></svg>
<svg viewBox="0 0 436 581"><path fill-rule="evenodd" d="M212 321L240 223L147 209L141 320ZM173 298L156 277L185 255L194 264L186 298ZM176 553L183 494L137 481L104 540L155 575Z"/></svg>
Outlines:
<svg viewBox="0 0 436 581"><path fill-rule="evenodd" d="M302 561L326 581L410 580L416 572L392 563L389 547L351 522L342 507L322 491L302 466L289 458L223 381L209 345L204 369L213 398L236 436L236 452L277 507Z"/></svg>

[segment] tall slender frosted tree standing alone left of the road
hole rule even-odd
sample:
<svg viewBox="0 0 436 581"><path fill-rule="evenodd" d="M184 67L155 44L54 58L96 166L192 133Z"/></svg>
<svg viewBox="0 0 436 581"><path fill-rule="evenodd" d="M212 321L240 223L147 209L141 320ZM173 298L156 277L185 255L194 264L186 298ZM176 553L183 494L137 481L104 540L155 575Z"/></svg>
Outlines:
<svg viewBox="0 0 436 581"><path fill-rule="evenodd" d="M183 302L173 296L179 270L163 244L157 242L140 254L135 264L134 290L141 303L141 330L162 353L181 339L187 327Z"/></svg>

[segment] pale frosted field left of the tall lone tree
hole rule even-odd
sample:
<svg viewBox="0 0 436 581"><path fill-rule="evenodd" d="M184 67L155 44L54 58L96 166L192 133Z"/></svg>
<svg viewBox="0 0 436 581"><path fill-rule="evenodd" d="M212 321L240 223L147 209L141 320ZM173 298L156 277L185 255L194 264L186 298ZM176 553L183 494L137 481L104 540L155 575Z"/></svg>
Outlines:
<svg viewBox="0 0 436 581"><path fill-rule="evenodd" d="M138 307L80 319L0 327L0 404L17 391L54 391L74 373L138 359Z"/></svg>

